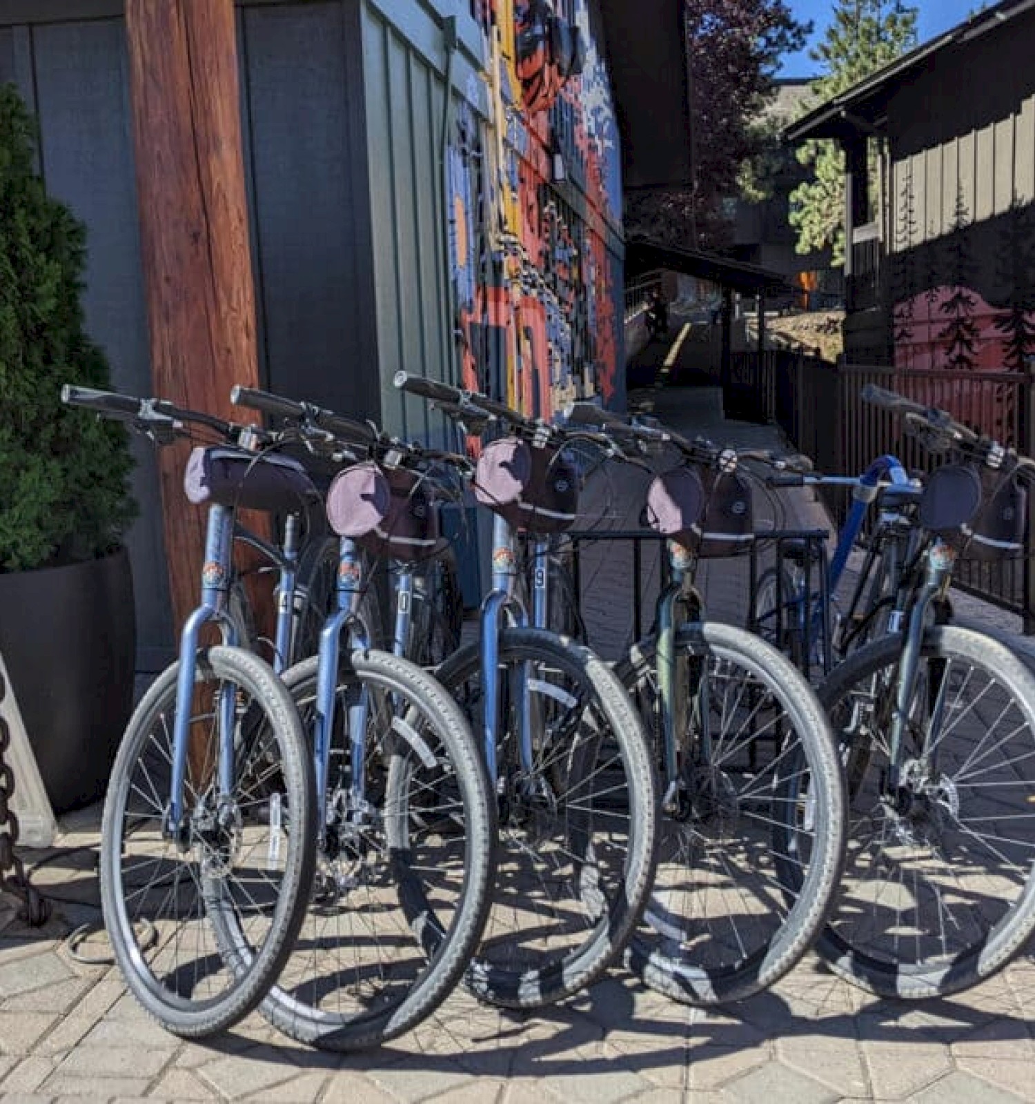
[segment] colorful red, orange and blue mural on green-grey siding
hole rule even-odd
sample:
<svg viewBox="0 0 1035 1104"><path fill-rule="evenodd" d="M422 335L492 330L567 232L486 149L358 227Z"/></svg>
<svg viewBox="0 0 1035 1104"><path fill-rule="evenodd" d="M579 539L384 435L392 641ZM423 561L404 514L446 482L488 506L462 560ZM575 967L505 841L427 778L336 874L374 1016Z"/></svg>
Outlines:
<svg viewBox="0 0 1035 1104"><path fill-rule="evenodd" d="M586 395L613 402L620 163L587 0L472 10L489 118L458 108L448 171L463 383L543 417Z"/></svg>

